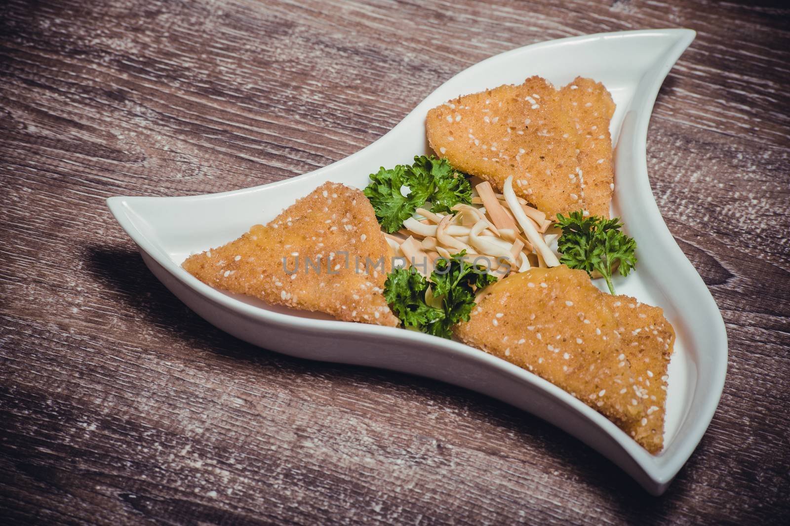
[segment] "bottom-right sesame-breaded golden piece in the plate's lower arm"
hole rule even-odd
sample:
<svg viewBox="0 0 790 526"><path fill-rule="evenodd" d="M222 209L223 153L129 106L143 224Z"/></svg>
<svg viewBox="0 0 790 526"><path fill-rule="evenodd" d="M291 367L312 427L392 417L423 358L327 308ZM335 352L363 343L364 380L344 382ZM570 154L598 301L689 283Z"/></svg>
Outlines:
<svg viewBox="0 0 790 526"><path fill-rule="evenodd" d="M551 381L660 452L675 342L660 308L605 294L565 265L510 274L483 294L454 329L461 341Z"/></svg>

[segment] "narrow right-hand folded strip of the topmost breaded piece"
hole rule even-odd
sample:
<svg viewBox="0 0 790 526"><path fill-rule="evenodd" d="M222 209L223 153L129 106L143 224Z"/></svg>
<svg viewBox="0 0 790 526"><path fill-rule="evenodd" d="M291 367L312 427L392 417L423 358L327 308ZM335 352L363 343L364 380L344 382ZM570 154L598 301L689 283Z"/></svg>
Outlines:
<svg viewBox="0 0 790 526"><path fill-rule="evenodd" d="M577 156L581 196L593 216L609 216L609 201L615 189L611 159L609 121L615 103L600 82L576 77L560 90L562 107L577 130Z"/></svg>

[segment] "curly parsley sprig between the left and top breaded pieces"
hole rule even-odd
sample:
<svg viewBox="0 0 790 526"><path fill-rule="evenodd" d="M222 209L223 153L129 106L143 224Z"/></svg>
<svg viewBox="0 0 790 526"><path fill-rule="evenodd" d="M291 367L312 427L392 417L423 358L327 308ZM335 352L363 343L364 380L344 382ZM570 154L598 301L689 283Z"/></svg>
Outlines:
<svg viewBox="0 0 790 526"><path fill-rule="evenodd" d="M404 197L401 187L407 186ZM371 174L371 184L363 190L371 201L378 222L385 231L400 230L404 220L431 201L431 211L450 212L457 203L472 202L472 187L464 174L453 170L446 159L416 156L411 166L382 167Z"/></svg>

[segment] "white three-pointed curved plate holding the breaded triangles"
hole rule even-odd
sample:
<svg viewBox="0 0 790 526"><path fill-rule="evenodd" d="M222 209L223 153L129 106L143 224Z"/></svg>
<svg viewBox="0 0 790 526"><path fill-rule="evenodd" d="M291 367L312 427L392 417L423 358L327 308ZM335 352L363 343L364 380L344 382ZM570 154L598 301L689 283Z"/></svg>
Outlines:
<svg viewBox="0 0 790 526"><path fill-rule="evenodd" d="M195 197L111 197L121 226L167 288L216 327L251 344L301 358L419 374L474 389L540 416L661 494L705 433L727 370L727 334L716 303L683 255L653 199L645 140L658 89L694 39L688 29L604 33L552 40L498 54L437 88L372 145L309 174ZM237 238L272 219L325 181L367 186L378 167L430 153L427 111L451 98L531 75L564 85L577 75L601 81L617 111L611 121L616 190L613 212L638 242L638 270L615 280L620 294L661 306L675 327L664 451L649 454L617 426L555 385L464 344L403 329L334 321L225 294L179 266L189 255Z"/></svg>

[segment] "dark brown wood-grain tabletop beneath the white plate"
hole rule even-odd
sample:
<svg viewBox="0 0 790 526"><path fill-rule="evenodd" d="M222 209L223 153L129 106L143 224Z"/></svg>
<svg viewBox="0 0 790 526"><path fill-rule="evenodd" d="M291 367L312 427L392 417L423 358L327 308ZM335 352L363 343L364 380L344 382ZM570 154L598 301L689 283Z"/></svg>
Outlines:
<svg viewBox="0 0 790 526"><path fill-rule="evenodd" d="M787 9L0 9L0 524L787 524ZM724 315L730 361L708 433L661 498L476 393L220 333L145 269L103 202L292 177L368 145L489 55L663 27L698 38L656 103L651 182Z"/></svg>

